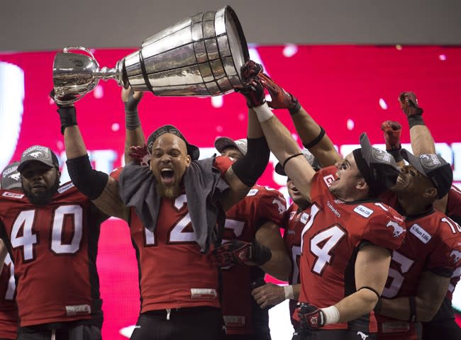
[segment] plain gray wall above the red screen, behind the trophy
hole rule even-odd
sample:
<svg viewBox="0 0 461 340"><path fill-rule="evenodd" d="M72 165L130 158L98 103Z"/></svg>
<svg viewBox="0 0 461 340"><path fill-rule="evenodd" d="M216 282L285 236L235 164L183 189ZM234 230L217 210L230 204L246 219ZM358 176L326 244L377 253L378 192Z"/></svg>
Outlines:
<svg viewBox="0 0 461 340"><path fill-rule="evenodd" d="M136 47L225 4L259 44L461 45L461 0L3 0L0 50Z"/></svg>

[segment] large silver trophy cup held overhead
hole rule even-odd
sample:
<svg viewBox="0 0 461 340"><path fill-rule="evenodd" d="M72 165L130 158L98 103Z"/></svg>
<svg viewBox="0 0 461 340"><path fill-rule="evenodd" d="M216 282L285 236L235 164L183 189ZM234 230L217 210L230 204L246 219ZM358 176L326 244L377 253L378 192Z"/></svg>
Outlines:
<svg viewBox="0 0 461 340"><path fill-rule="evenodd" d="M87 52L73 53L81 50ZM155 96L218 96L242 86L240 67L249 59L238 18L230 6L198 13L144 40L113 69L99 67L85 47L65 47L53 63L55 101L78 101L99 79Z"/></svg>

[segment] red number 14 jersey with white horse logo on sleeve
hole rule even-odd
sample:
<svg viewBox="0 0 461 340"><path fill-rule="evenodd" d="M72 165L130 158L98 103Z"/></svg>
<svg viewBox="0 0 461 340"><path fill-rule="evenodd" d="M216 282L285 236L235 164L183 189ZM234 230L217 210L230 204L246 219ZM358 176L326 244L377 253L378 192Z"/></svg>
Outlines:
<svg viewBox="0 0 461 340"><path fill-rule="evenodd" d="M329 307L355 293L354 263L363 241L399 249L403 219L377 200L344 202L328 190L335 166L318 171L311 182L311 215L301 234L301 293L299 301ZM373 312L325 329L376 331Z"/></svg>

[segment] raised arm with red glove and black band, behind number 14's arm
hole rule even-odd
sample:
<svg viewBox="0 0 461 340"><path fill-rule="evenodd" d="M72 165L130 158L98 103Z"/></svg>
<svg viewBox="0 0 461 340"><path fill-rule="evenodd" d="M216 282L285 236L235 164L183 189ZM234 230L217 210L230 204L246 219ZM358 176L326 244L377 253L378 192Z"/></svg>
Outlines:
<svg viewBox="0 0 461 340"><path fill-rule="evenodd" d="M267 74L262 73L258 77L272 97L268 105L271 108L286 108L289 111L304 147L309 149L322 166L334 165L343 159L325 130L304 110L295 96L282 89L282 86L276 84Z"/></svg>

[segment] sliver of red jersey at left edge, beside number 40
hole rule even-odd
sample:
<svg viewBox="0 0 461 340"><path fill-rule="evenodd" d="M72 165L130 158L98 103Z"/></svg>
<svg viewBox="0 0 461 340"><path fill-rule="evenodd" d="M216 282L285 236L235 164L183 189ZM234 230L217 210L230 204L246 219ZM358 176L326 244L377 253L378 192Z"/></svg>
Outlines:
<svg viewBox="0 0 461 340"><path fill-rule="evenodd" d="M14 264L7 254L0 272L0 339L16 339L18 307L14 300L15 291Z"/></svg>

